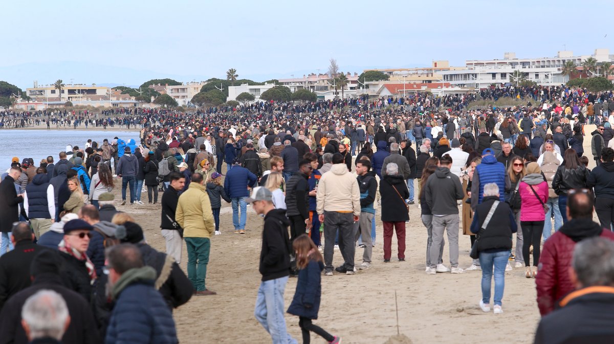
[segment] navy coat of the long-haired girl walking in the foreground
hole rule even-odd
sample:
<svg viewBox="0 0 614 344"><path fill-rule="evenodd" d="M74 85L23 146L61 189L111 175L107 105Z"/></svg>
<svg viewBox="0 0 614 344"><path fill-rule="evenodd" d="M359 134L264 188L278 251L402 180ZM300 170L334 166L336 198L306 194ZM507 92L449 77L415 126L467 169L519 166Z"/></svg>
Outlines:
<svg viewBox="0 0 614 344"><path fill-rule="evenodd" d="M297 289L288 307L288 313L317 319L322 296L322 270L324 263L310 260L305 268L298 271Z"/></svg>

